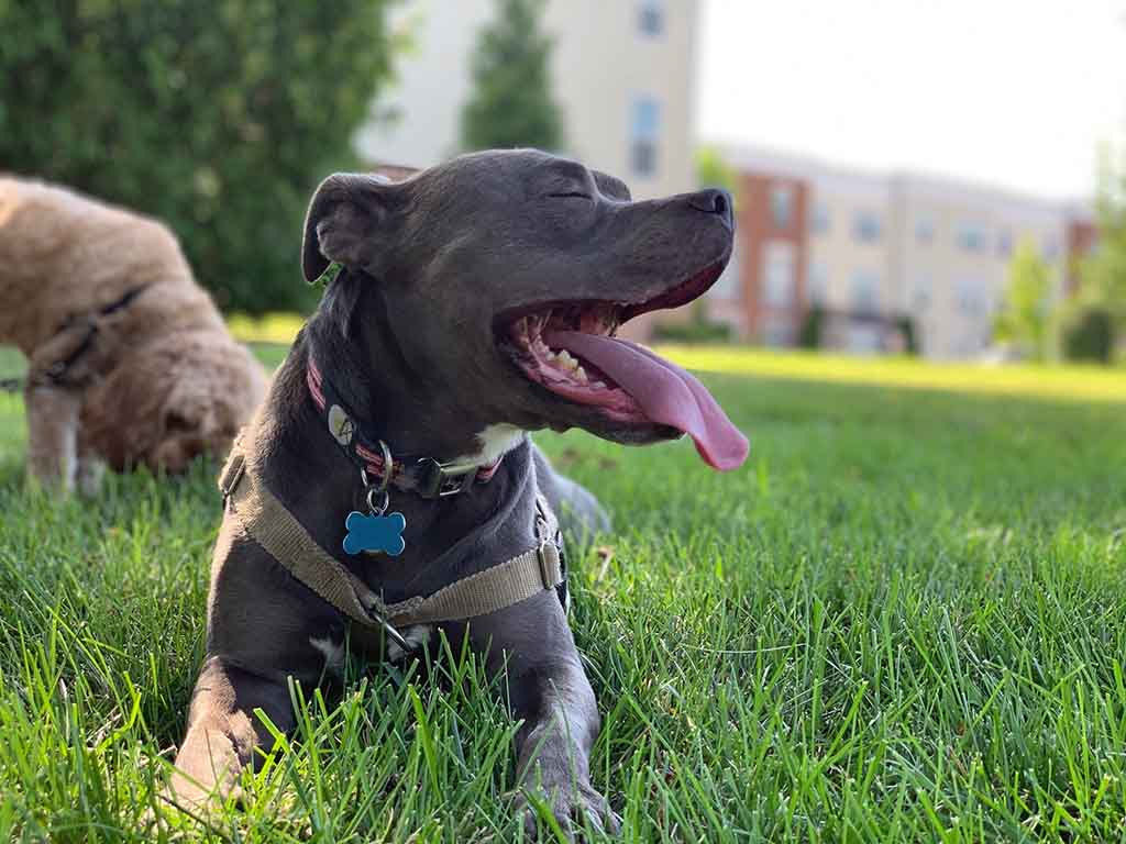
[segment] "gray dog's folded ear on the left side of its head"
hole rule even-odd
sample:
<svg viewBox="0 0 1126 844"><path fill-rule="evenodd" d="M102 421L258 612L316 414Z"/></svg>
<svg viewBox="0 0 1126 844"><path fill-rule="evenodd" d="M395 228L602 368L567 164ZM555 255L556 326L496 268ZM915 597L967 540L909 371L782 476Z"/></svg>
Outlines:
<svg viewBox="0 0 1126 844"><path fill-rule="evenodd" d="M377 235L391 215L394 188L383 176L336 173L321 182L305 215L301 266L315 281L330 261L370 269Z"/></svg>

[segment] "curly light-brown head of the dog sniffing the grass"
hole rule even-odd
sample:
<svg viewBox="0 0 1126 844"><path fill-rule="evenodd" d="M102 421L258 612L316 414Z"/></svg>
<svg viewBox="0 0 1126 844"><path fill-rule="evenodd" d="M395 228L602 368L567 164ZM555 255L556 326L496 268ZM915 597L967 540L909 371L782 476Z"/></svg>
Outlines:
<svg viewBox="0 0 1126 844"><path fill-rule="evenodd" d="M125 354L87 392L82 436L115 469L180 473L202 454L230 450L266 385L258 361L225 334L177 332Z"/></svg>

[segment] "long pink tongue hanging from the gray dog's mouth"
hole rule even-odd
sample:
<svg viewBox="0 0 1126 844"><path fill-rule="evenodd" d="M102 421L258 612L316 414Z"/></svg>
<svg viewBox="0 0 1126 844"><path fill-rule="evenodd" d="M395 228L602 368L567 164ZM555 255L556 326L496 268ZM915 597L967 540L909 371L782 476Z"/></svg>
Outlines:
<svg viewBox="0 0 1126 844"><path fill-rule="evenodd" d="M579 331L551 331L547 344L589 360L633 396L654 422L683 431L714 469L734 469L747 459L747 438L707 388L680 367L636 343Z"/></svg>

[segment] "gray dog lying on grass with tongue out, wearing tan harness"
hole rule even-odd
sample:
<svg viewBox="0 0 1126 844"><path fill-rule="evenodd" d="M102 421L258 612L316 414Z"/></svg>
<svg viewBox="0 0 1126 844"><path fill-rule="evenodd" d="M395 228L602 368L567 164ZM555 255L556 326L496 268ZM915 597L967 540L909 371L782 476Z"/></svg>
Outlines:
<svg viewBox="0 0 1126 844"><path fill-rule="evenodd" d="M553 511L586 529L605 515L526 432L688 433L713 467L740 465L747 440L707 390L614 336L703 294L732 231L723 191L634 203L619 180L535 151L321 185L303 267L324 299L224 469L172 799L231 793L271 744L254 708L291 728L287 681L339 670L346 631L394 659L441 629L507 671L522 788L562 824L616 828L589 781L599 716Z"/></svg>

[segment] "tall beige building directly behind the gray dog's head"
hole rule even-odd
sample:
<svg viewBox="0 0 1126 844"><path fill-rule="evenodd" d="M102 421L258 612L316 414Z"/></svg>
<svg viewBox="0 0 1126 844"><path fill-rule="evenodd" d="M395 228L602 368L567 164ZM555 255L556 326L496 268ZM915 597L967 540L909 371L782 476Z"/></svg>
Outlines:
<svg viewBox="0 0 1126 844"><path fill-rule="evenodd" d="M427 167L456 154L470 60L497 0L408 0L393 24L413 47L357 138L369 161ZM549 0L551 77L564 149L638 198L694 188L697 0ZM384 119L390 117L391 119Z"/></svg>

